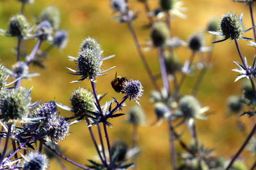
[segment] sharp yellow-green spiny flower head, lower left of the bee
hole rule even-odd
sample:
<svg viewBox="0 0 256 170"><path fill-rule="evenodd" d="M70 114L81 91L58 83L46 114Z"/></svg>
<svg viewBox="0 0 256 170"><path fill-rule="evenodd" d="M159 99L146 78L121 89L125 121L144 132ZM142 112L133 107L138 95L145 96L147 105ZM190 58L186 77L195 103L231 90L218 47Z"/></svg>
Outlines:
<svg viewBox="0 0 256 170"><path fill-rule="evenodd" d="M86 118L91 115L88 110L93 110L94 97L92 92L80 87L72 93L70 101L76 117Z"/></svg>

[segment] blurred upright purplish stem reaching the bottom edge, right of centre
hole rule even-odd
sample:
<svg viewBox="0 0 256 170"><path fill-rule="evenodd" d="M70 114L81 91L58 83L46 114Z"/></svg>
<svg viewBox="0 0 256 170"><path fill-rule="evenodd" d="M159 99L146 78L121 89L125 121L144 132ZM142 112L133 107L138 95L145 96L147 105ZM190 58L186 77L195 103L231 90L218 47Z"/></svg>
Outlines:
<svg viewBox="0 0 256 170"><path fill-rule="evenodd" d="M175 148L175 134L173 132L174 129L170 128L172 127L172 118L168 118L168 124L169 124L169 138L170 138L170 153L171 153L171 158L172 158L172 167L173 170L177 169L177 151Z"/></svg>

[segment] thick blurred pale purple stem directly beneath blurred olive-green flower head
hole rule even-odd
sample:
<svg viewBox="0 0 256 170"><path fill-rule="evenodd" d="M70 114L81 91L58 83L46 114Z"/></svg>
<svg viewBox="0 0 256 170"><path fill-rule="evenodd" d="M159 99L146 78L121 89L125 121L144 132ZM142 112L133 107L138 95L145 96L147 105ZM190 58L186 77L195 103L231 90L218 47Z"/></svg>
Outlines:
<svg viewBox="0 0 256 170"><path fill-rule="evenodd" d="M166 65L164 62L164 49L162 46L160 46L158 48L158 55L159 55L159 64L160 64L160 69L161 69L163 86L169 96L170 95L170 87L169 87L169 80L168 80Z"/></svg>

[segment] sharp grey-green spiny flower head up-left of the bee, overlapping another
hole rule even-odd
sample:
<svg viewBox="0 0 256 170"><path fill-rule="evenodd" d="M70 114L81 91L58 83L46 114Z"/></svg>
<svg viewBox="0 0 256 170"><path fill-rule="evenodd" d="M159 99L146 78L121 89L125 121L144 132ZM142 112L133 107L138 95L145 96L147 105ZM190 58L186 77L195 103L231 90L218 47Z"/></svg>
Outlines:
<svg viewBox="0 0 256 170"><path fill-rule="evenodd" d="M102 59L99 53L90 48L82 49L79 52L77 59L77 67L83 78L95 80L95 77L100 73Z"/></svg>

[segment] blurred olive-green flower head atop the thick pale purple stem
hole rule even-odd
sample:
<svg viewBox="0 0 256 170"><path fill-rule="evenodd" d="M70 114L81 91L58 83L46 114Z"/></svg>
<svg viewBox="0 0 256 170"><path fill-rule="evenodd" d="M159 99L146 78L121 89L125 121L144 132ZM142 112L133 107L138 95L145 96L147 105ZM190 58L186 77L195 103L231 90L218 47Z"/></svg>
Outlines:
<svg viewBox="0 0 256 170"><path fill-rule="evenodd" d="M162 46L169 38L170 32L164 22L156 22L151 31L154 46Z"/></svg>

